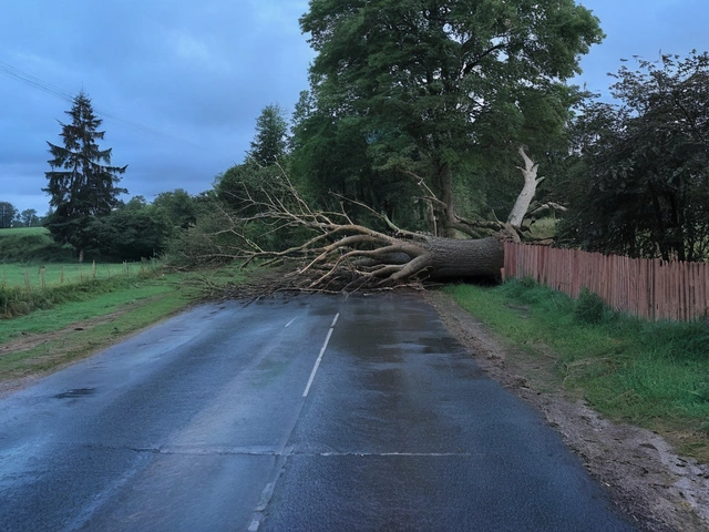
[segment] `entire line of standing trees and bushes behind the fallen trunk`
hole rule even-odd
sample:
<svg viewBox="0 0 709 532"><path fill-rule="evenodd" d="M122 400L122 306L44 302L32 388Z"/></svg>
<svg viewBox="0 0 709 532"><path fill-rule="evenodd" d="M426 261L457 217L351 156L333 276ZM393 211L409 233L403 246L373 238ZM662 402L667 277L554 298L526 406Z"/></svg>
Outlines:
<svg viewBox="0 0 709 532"><path fill-rule="evenodd" d="M558 245L709 257L706 52L636 58L606 102L569 84L605 37L574 0L311 0L300 25L309 90L292 116L266 106L244 163L195 197L121 202L126 166L76 96L50 143L53 237L79 257L280 253L309 238L282 218L307 204L382 235L459 239L530 238L551 215Z"/></svg>

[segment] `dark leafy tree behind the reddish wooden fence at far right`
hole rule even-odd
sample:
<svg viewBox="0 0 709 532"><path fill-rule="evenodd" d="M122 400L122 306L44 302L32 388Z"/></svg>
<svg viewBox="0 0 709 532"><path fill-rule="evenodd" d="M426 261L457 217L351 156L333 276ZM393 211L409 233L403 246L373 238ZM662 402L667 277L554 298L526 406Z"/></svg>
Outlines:
<svg viewBox="0 0 709 532"><path fill-rule="evenodd" d="M666 260L709 258L709 54L639 60L615 75L619 104L576 124L568 245Z"/></svg>

